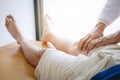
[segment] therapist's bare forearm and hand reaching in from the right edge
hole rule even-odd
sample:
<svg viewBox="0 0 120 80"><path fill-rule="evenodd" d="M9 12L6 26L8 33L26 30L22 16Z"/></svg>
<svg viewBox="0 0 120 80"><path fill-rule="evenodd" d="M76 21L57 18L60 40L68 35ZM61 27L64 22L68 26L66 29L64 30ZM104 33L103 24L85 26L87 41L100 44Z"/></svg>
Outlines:
<svg viewBox="0 0 120 80"><path fill-rule="evenodd" d="M110 45L110 44L117 44L118 42L120 42L120 32L116 32L114 34L110 34L108 36L104 36L104 37L100 37L98 39L94 39L92 40L87 49L86 52L89 53L92 49L94 48L98 48L101 46L105 46L105 45Z"/></svg>

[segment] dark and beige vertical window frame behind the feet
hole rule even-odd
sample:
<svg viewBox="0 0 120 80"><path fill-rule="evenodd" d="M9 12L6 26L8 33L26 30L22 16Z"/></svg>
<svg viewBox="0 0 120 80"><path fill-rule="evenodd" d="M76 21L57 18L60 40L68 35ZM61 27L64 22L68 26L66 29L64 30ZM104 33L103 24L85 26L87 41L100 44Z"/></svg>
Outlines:
<svg viewBox="0 0 120 80"><path fill-rule="evenodd" d="M40 40L43 33L43 0L34 0L36 40Z"/></svg>

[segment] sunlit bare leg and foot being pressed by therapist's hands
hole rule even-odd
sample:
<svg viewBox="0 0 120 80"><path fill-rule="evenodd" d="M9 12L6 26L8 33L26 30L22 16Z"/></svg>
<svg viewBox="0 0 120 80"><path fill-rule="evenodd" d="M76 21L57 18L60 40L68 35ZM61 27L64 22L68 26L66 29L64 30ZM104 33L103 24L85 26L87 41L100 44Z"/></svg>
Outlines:
<svg viewBox="0 0 120 80"><path fill-rule="evenodd" d="M77 48L78 42L59 37L53 32L53 26L54 24L51 18L46 15L44 17L44 30L41 41L43 41L43 43L51 42L56 49L62 50L72 55L78 55L80 53Z"/></svg>

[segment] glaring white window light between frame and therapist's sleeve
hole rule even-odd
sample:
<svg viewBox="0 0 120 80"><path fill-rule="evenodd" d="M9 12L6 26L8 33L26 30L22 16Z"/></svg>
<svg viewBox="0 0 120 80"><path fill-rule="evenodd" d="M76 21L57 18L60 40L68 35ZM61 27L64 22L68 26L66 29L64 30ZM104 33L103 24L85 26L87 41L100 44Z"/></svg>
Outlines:
<svg viewBox="0 0 120 80"><path fill-rule="evenodd" d="M79 40L95 26L106 1L43 0L44 14L51 16L60 36Z"/></svg>

